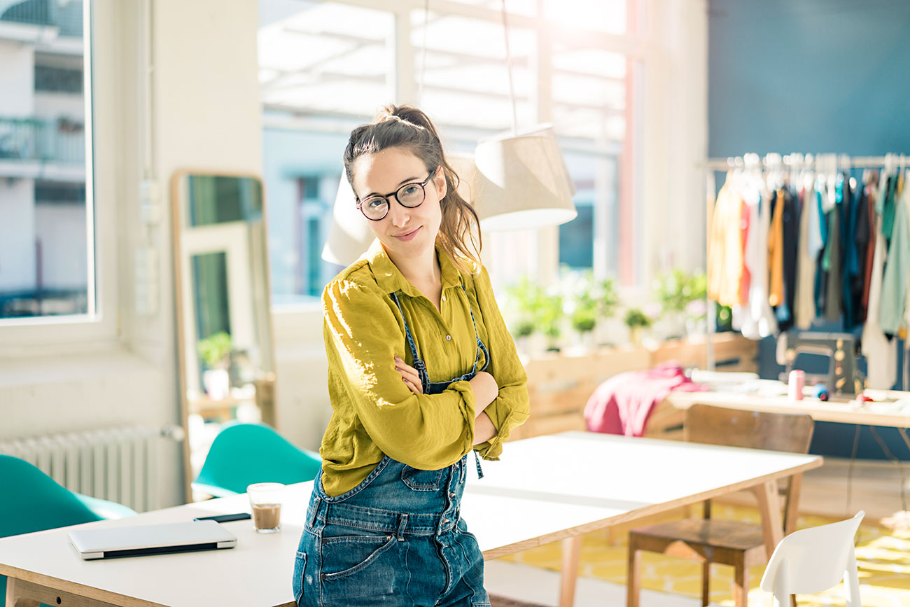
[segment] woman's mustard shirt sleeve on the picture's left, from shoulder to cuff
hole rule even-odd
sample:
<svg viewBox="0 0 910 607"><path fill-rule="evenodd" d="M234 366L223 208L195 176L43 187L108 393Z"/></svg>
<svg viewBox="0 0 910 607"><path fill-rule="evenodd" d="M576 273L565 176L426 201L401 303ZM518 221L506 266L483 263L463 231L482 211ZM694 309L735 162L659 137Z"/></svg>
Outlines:
<svg viewBox="0 0 910 607"><path fill-rule="evenodd" d="M376 286L336 279L322 296L329 393L345 400L379 450L412 468L438 470L470 452L474 391L456 381L414 394L395 369L406 359L399 319Z"/></svg>

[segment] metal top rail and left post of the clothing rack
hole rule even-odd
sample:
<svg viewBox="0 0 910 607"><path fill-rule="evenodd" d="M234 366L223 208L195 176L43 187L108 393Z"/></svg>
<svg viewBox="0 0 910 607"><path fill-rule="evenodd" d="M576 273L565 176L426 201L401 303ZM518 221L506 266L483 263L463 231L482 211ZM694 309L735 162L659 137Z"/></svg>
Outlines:
<svg viewBox="0 0 910 607"><path fill-rule="evenodd" d="M705 158L702 162L696 165L697 168L702 169L705 174L705 201L706 201L706 214L705 214L705 246L708 243L708 236L711 234L711 227L713 222L713 208L714 208L714 198L716 196L716 187L714 182L714 171L728 171L735 168L749 168L749 167L759 167L759 168L780 168L786 169L790 167L797 168L818 168L816 167L816 161L819 158L836 157L837 163L836 167L838 169L850 169L850 168L882 168L882 167L908 167L910 168L910 155L905 154L888 154L886 156L849 156L846 154L821 154L821 155L812 155L812 154L789 154L789 155L780 155L780 154L768 154L764 157L759 157L757 154L745 154L743 156L736 157L714 157L714 158ZM712 306L713 300L711 298L706 299L707 303L707 335L705 336L705 345L707 347L706 352L706 362L708 370L713 371L715 369L714 362L714 341L713 334L716 329L717 319L715 317L715 310ZM910 354L910 349L908 349L906 354ZM906 361L905 361L906 362ZM905 380L906 382L906 380Z"/></svg>

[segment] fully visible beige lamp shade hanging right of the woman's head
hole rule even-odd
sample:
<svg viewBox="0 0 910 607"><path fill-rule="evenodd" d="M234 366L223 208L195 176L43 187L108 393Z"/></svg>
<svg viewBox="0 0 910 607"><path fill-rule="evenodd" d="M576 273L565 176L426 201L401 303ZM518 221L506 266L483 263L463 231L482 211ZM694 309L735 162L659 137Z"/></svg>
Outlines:
<svg viewBox="0 0 910 607"><path fill-rule="evenodd" d="M474 163L481 228L542 228L578 215L571 200L575 187L552 129L481 141Z"/></svg>

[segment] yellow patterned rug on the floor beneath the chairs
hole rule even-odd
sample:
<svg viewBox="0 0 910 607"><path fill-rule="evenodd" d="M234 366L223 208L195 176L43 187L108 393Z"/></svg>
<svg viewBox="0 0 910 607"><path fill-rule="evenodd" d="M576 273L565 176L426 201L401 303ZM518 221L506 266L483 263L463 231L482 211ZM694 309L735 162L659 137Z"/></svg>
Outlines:
<svg viewBox="0 0 910 607"><path fill-rule="evenodd" d="M579 575L606 582L626 582L626 538L634 527L669 521L682 516L676 511L661 517L649 517L617 525L612 530L594 531L581 541ZM713 518L758 522L757 510L741 506L715 504ZM817 516L800 517L800 529L815 527L839 519ZM555 571L561 566L561 544L554 542L519 552L508 561L542 567ZM910 607L910 533L891 531L876 524L863 524L856 534L856 560L859 563L860 595L864 607ZM764 565L753 567L749 574L749 602L766 605L769 595L758 588ZM642 588L701 597L701 565L653 552L642 552ZM712 565L711 602L733 605L733 567ZM839 584L827 592L800 594L800 607L838 607L844 605L844 586Z"/></svg>

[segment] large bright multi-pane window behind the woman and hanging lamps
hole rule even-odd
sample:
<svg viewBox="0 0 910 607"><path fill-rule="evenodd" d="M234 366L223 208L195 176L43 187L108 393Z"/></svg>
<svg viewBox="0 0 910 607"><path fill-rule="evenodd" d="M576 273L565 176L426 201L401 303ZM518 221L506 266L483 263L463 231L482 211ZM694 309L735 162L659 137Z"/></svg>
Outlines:
<svg viewBox="0 0 910 607"><path fill-rule="evenodd" d="M554 126L579 214L558 229L485 234L494 282L559 265L634 282L639 3L508 0L507 48L499 0L430 3L429 12L422 0L387 11L260 0L273 301L312 301L340 269L319 253L350 129L379 106L410 101L450 151L472 152L512 126L507 58L517 126Z"/></svg>

